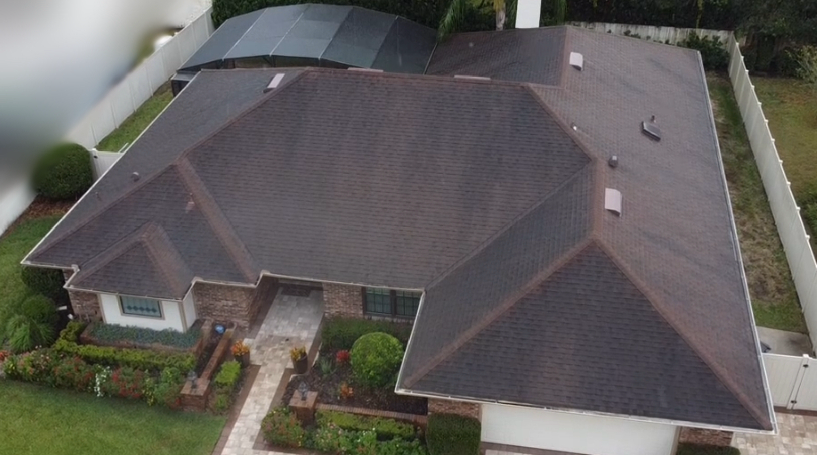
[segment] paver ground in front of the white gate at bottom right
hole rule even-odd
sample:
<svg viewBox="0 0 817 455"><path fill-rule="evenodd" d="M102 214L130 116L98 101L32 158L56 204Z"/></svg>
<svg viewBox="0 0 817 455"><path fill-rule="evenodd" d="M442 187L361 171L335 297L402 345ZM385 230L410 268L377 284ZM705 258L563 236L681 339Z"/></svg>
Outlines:
<svg viewBox="0 0 817 455"><path fill-rule="evenodd" d="M776 413L779 435L735 434L741 455L817 455L817 417Z"/></svg>

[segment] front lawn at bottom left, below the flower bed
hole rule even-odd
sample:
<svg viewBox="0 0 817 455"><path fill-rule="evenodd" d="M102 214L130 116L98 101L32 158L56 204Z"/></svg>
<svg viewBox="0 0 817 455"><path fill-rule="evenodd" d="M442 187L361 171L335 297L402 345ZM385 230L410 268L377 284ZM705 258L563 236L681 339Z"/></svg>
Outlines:
<svg viewBox="0 0 817 455"><path fill-rule="evenodd" d="M0 381L0 454L209 455L225 417Z"/></svg>

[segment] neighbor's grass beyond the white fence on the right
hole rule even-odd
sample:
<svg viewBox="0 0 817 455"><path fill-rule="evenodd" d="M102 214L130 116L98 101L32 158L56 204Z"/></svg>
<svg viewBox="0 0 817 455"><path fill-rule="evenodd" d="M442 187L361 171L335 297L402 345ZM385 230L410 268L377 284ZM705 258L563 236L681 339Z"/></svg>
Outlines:
<svg viewBox="0 0 817 455"><path fill-rule="evenodd" d="M817 186L817 91L797 79L752 77L795 197Z"/></svg>

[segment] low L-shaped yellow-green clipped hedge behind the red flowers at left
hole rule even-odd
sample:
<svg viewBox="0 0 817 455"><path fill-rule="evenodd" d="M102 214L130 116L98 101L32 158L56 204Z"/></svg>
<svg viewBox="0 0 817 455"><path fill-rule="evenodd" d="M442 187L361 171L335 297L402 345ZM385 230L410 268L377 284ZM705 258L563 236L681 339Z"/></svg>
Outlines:
<svg viewBox="0 0 817 455"><path fill-rule="evenodd" d="M127 367L147 371L161 371L173 368L181 372L190 371L196 366L193 354L175 354L147 349L121 349L117 347L100 347L77 344L79 334L85 325L71 321L60 332L60 338L54 343L54 350L70 356L78 356L89 364L102 364L110 367Z"/></svg>

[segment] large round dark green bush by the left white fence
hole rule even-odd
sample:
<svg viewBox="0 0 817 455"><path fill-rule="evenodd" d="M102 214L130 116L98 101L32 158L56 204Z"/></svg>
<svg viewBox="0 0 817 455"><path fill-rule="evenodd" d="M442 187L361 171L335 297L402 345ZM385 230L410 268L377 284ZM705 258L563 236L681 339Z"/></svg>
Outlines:
<svg viewBox="0 0 817 455"><path fill-rule="evenodd" d="M91 154L82 145L58 145L38 161L32 179L34 189L44 197L76 199L94 183Z"/></svg>

